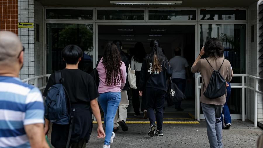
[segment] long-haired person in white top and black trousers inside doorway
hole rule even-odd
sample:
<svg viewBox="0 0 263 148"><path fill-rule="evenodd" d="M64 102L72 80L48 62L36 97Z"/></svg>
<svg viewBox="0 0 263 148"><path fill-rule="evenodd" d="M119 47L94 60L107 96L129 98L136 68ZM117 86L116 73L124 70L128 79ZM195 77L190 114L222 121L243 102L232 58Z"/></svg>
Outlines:
<svg viewBox="0 0 263 148"><path fill-rule="evenodd" d="M141 66L142 66L143 59L146 56L146 52L141 42L137 42L135 44L134 50L135 50L134 56L132 56L131 58L131 70L135 70L136 86L138 86L139 80L140 80ZM139 93L137 89L132 89L132 106L134 109L134 116L139 117L140 116L140 99L139 99ZM147 111L146 111L145 96L142 96L141 111L143 111L143 117L147 119L148 116L147 116Z"/></svg>

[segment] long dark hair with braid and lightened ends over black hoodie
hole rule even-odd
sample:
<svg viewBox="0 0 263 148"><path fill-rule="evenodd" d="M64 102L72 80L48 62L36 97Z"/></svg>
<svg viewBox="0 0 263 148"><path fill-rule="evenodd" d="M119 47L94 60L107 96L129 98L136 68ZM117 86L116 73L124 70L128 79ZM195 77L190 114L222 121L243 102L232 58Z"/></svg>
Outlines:
<svg viewBox="0 0 263 148"><path fill-rule="evenodd" d="M161 45L158 40L151 40L150 42L150 54L146 57L147 67L149 63L152 63L152 72L162 71L162 63L166 62L166 57L162 52Z"/></svg>

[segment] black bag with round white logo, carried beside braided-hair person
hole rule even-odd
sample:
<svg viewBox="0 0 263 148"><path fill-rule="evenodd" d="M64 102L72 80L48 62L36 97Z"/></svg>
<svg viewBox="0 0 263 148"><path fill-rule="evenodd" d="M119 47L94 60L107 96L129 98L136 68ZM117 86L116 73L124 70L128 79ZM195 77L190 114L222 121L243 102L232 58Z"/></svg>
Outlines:
<svg viewBox="0 0 263 148"><path fill-rule="evenodd" d="M172 106L176 102L184 100L184 93L179 90L176 84L172 82L171 78L167 78L168 89L166 93L167 106Z"/></svg>

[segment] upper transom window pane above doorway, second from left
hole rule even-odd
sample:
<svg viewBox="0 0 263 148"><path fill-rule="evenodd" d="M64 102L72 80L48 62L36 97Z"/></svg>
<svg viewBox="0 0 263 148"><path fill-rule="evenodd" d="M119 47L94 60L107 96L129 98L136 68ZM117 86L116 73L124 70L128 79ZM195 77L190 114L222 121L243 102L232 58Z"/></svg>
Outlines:
<svg viewBox="0 0 263 148"><path fill-rule="evenodd" d="M144 20L144 10L97 10L98 20Z"/></svg>

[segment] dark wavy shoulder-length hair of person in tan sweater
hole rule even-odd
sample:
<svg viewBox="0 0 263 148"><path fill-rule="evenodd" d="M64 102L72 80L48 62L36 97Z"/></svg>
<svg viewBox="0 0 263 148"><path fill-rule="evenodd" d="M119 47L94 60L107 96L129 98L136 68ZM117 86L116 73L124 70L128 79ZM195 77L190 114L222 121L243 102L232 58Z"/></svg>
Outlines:
<svg viewBox="0 0 263 148"><path fill-rule="evenodd" d="M210 38L205 42L205 54L210 57L223 57L224 48L217 38Z"/></svg>

